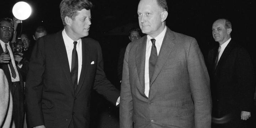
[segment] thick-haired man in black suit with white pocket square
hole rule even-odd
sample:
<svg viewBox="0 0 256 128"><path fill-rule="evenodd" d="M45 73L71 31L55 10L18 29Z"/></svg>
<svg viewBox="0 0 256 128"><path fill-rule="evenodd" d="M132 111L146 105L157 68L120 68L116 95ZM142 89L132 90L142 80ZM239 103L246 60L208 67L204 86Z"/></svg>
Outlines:
<svg viewBox="0 0 256 128"><path fill-rule="evenodd" d="M87 128L95 89L114 105L119 91L105 77L100 44L88 36L92 3L62 0L64 30L37 40L26 83L28 121L36 128Z"/></svg>

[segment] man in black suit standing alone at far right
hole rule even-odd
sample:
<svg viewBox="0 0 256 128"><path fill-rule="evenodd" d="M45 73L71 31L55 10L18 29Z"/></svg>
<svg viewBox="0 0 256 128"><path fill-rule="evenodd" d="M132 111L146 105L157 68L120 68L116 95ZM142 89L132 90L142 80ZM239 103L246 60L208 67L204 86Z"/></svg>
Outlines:
<svg viewBox="0 0 256 128"><path fill-rule="evenodd" d="M213 38L219 43L208 54L213 117L225 119L217 128L246 128L254 103L255 76L249 54L231 39L231 31L229 20L213 23Z"/></svg>

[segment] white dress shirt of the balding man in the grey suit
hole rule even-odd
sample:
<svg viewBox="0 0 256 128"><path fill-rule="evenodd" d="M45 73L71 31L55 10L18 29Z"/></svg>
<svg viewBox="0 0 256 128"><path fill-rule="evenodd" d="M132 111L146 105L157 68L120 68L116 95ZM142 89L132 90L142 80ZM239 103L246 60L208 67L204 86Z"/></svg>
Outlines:
<svg viewBox="0 0 256 128"><path fill-rule="evenodd" d="M155 46L156 46L156 51L159 54L160 48L162 46L162 41L164 39L165 33L166 33L167 27L165 26L164 30L156 36L154 39L155 41ZM149 35L147 36L147 42L146 42L146 58L145 58L145 95L148 97L149 95L149 57L151 53L151 47L152 47L152 42L150 39L153 39Z"/></svg>

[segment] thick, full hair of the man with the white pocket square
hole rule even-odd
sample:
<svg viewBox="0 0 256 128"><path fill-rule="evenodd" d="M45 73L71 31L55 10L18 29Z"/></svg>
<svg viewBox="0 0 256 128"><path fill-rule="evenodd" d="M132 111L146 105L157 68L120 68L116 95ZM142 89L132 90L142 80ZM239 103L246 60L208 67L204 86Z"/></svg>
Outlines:
<svg viewBox="0 0 256 128"><path fill-rule="evenodd" d="M60 16L62 18L63 25L66 26L66 16L75 20L75 17L78 15L76 13L77 10L90 10L92 7L92 3L88 0L62 0L62 2L60 2Z"/></svg>

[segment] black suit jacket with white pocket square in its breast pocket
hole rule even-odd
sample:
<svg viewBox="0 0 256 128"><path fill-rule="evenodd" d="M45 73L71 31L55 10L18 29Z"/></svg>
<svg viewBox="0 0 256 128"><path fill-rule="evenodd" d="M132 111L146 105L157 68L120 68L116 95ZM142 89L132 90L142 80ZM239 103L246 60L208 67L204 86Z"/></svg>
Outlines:
<svg viewBox="0 0 256 128"><path fill-rule="evenodd" d="M72 119L75 128L89 127L92 89L116 104L119 91L105 77L100 44L91 38L81 43L82 69L74 92L62 31L36 42L26 83L31 127L68 128Z"/></svg>

